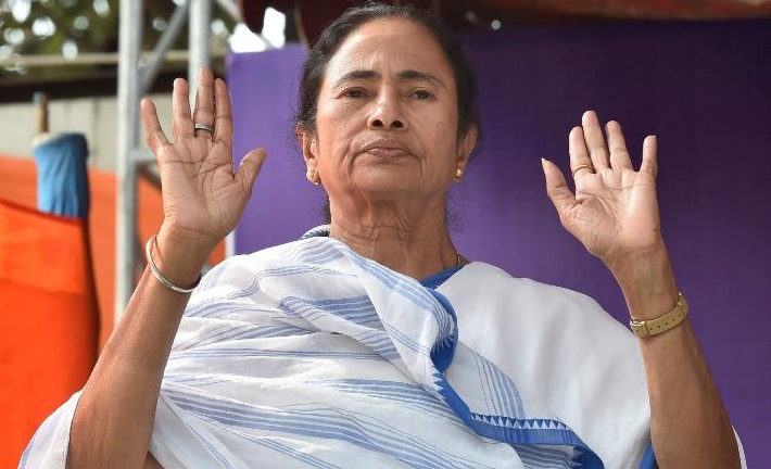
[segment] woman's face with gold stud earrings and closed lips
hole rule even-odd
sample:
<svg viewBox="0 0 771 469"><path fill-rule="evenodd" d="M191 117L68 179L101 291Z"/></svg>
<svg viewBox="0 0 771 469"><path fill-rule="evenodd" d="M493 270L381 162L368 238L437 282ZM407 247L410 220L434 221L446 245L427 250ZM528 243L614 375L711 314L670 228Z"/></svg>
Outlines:
<svg viewBox="0 0 771 469"><path fill-rule="evenodd" d="M476 129L457 141L457 113L453 72L431 33L407 18L375 20L329 61L303 152L333 208L443 202L476 142Z"/></svg>

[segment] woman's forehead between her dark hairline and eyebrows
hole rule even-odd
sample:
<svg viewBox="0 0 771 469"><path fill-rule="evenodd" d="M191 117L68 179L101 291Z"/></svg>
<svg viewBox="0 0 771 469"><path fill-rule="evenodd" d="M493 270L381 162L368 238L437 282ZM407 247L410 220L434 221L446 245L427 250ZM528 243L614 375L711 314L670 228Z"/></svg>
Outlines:
<svg viewBox="0 0 771 469"><path fill-rule="evenodd" d="M422 25L405 17L372 20L345 38L327 64L326 83L353 69L382 75L418 71L452 86L452 68L444 50Z"/></svg>

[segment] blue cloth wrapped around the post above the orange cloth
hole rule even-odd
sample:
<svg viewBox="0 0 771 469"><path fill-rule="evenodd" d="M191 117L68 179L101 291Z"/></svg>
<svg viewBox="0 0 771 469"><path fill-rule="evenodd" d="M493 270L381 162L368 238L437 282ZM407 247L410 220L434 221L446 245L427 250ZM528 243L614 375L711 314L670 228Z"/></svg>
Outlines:
<svg viewBox="0 0 771 469"><path fill-rule="evenodd" d="M88 145L83 134L62 134L37 145L38 210L86 218L89 210Z"/></svg>

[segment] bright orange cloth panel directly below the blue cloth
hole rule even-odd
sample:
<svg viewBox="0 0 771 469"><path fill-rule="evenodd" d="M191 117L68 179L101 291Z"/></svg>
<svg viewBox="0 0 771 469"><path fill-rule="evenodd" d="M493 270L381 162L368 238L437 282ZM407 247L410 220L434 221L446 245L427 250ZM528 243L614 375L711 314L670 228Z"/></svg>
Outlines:
<svg viewBox="0 0 771 469"><path fill-rule="evenodd" d="M85 384L98 338L86 220L0 201L0 468Z"/></svg>

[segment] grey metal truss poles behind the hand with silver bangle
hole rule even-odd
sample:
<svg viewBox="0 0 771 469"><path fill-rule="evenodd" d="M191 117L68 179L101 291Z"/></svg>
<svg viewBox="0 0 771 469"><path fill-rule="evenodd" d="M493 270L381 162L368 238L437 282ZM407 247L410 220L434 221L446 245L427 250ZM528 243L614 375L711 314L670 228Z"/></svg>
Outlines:
<svg viewBox="0 0 771 469"><path fill-rule="evenodd" d="M233 0L187 0L179 2L153 49L150 60L142 61L142 18L144 0L122 0L118 48L117 105L117 172L116 172L116 243L115 243L115 321L123 316L135 289L136 259L139 255L137 237L138 166L152 160L140 145L139 101L157 75L185 22L190 24L188 48L188 81L197 89L198 69L207 67L210 56L210 24L212 1L240 21ZM230 238L232 240L232 238ZM232 251L229 249L228 251Z"/></svg>

